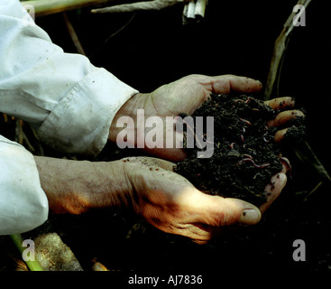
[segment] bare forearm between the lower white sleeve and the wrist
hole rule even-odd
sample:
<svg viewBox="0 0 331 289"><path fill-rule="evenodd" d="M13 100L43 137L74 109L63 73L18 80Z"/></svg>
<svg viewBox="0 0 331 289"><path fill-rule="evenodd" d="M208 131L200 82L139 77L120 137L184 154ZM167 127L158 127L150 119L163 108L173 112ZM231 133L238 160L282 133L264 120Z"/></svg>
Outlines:
<svg viewBox="0 0 331 289"><path fill-rule="evenodd" d="M131 204L131 186L123 161L93 163L39 156L34 159L53 213L80 214L97 208L127 208Z"/></svg>

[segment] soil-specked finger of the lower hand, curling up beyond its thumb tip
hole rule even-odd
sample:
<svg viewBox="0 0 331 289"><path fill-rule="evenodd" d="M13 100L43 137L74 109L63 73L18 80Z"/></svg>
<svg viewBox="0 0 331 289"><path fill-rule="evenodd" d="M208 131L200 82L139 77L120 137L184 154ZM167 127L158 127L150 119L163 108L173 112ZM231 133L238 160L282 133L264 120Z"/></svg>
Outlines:
<svg viewBox="0 0 331 289"><path fill-rule="evenodd" d="M265 187L265 192L267 195L267 201L260 206L260 210L263 213L267 210L271 203L276 200L282 189L285 187L287 182L286 174L283 172L277 173L272 176L271 183L267 184Z"/></svg>

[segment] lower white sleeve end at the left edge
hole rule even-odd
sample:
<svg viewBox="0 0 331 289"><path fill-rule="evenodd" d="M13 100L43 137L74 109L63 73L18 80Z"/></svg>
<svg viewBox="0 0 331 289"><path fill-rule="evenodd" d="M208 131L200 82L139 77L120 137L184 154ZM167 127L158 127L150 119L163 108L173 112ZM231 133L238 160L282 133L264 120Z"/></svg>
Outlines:
<svg viewBox="0 0 331 289"><path fill-rule="evenodd" d="M38 227L48 211L32 154L0 135L0 235Z"/></svg>

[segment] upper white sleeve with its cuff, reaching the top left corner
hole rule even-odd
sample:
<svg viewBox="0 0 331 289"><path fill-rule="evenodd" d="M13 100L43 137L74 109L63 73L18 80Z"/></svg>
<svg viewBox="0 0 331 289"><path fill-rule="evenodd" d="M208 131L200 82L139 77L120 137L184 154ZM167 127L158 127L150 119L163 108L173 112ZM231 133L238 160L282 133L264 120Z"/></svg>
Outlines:
<svg viewBox="0 0 331 289"><path fill-rule="evenodd" d="M116 112L138 91L87 57L64 53L18 0L0 2L0 110L69 153L97 154Z"/></svg>

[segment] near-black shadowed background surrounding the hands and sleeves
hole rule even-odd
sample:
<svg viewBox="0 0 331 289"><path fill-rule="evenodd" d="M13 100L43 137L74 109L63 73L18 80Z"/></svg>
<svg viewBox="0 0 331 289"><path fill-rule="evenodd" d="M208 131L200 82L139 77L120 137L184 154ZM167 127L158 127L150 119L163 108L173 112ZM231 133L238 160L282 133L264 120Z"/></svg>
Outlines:
<svg viewBox="0 0 331 289"><path fill-rule="evenodd" d="M265 84L273 43L296 4L289 0L210 0L205 20L189 25L182 25L180 7L135 15L90 14L88 8L67 14L92 63L133 88L150 92L191 73L231 73ZM109 38L130 19L121 32ZM291 35L279 94L273 96L295 97L298 107L305 107L308 142L331 172L328 22L323 2L312 1L306 12L306 26L296 27ZM37 18L36 23L64 51L76 52L61 14ZM322 186L303 201L297 193L313 190L318 176L290 150L286 156L293 166L292 179L261 223L225 230L206 246L166 235L143 222L131 238L125 238L137 219L113 211L57 217L53 225L86 270L97 257L109 269L120 272L165 274L175 270L207 274L205 278L210 280L225 270L238 275L246 270L256 275L272 270L331 272L329 188ZM306 262L293 261L295 239L306 242Z"/></svg>

